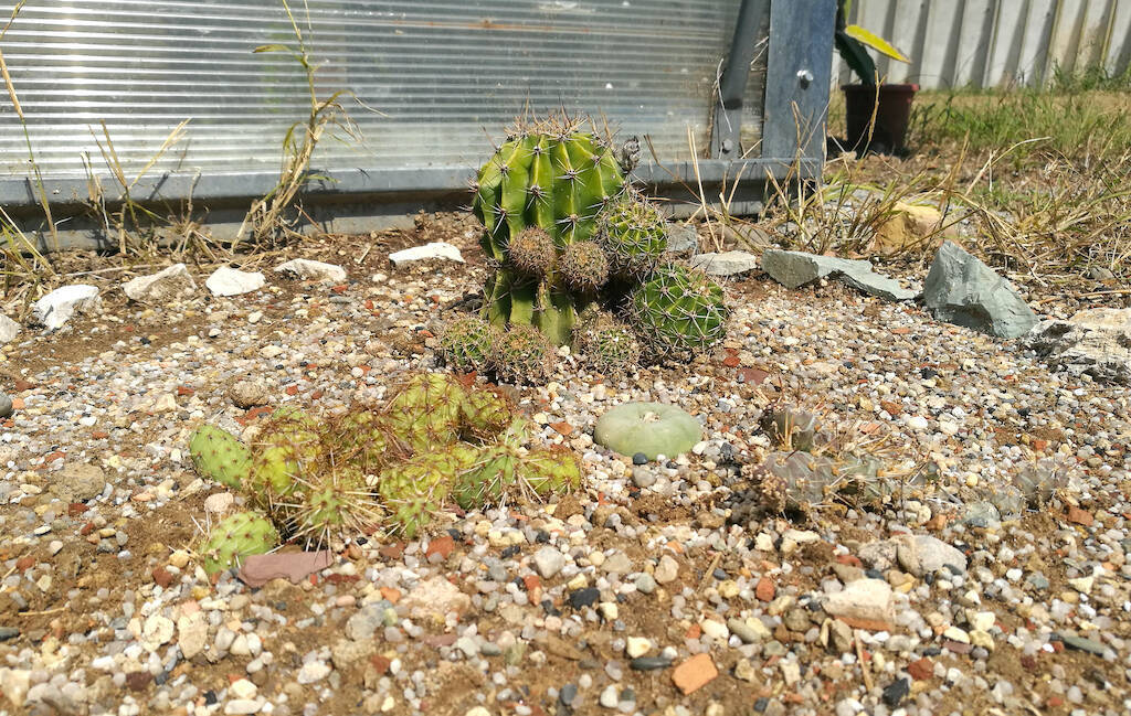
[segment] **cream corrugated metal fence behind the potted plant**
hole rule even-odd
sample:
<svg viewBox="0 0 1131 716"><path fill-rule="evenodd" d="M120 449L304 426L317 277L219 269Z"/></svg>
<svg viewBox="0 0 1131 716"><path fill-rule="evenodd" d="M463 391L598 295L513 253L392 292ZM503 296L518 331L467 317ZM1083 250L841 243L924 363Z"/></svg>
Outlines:
<svg viewBox="0 0 1131 716"><path fill-rule="evenodd" d="M924 88L1039 86L1055 67L1131 64L1131 0L856 0L852 21L912 58L877 62L888 81Z"/></svg>

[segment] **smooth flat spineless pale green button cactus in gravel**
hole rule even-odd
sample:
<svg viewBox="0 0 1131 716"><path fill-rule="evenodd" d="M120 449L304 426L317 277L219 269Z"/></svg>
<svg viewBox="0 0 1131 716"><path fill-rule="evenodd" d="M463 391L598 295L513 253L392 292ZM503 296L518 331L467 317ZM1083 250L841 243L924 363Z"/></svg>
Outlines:
<svg viewBox="0 0 1131 716"><path fill-rule="evenodd" d="M675 457L702 439L702 426L688 412L666 403L624 403L597 419L594 439L622 455L644 453Z"/></svg>

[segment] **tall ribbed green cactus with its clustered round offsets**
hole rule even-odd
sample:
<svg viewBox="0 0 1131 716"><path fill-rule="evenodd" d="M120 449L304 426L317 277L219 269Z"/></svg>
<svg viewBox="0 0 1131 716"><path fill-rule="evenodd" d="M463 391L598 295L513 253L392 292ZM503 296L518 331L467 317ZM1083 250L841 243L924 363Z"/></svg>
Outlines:
<svg viewBox="0 0 1131 716"><path fill-rule="evenodd" d="M691 356L722 338L723 289L705 274L664 263L663 215L625 184L608 142L582 131L581 122L551 117L516 125L480 169L474 190L483 250L495 268L483 318L503 340L534 326L553 346L576 343L579 316L589 306L619 311L650 356ZM485 335L481 326L454 333L444 348L465 368L541 379L508 363L507 351L484 356L477 346Z"/></svg>

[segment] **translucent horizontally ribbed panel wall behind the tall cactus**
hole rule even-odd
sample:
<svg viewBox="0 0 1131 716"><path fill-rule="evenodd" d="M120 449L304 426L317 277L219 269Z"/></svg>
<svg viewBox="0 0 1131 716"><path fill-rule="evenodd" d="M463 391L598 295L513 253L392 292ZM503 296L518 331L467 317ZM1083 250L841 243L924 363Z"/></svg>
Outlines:
<svg viewBox="0 0 1131 716"><path fill-rule="evenodd" d="M739 0L301 0L293 10L321 63L319 90L348 89L365 140L326 141L314 166L472 166L487 136L527 104L601 111L687 158L687 128L709 141L713 89ZM768 5L768 3L767 3ZM8 16L11 2L0 2ZM270 171L308 108L305 79L279 53L294 43L270 0L40 0L19 12L2 49L37 163L48 177L102 168L90 129L105 121L135 171L182 120L187 138L159 169ZM765 53L748 86L744 136L757 140ZM344 101L346 105L351 103ZM101 131L101 130L98 130ZM0 171L27 171L10 104L0 101Z"/></svg>

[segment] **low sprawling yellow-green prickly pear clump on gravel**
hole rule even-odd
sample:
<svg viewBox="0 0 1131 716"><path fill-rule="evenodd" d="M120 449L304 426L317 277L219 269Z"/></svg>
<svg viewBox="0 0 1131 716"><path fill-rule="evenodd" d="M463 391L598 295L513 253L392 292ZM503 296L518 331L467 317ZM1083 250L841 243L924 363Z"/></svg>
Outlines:
<svg viewBox="0 0 1131 716"><path fill-rule="evenodd" d="M189 440L198 473L247 497L201 542L209 573L283 539L327 544L383 527L415 536L449 504L464 509L581 481L569 451L527 447L507 396L443 374L417 374L378 409L314 418L280 409L251 445L205 425Z"/></svg>

